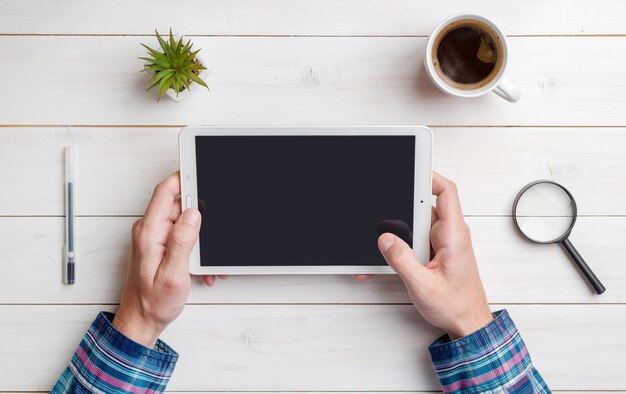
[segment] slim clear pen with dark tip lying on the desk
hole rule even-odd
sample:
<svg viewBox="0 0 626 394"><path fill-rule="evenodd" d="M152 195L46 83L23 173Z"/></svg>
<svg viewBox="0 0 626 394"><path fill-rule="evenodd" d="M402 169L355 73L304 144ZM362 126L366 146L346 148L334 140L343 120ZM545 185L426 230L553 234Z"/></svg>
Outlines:
<svg viewBox="0 0 626 394"><path fill-rule="evenodd" d="M76 185L76 153L74 146L65 147L65 248L63 254L63 283L73 285L76 254L74 242L74 193Z"/></svg>

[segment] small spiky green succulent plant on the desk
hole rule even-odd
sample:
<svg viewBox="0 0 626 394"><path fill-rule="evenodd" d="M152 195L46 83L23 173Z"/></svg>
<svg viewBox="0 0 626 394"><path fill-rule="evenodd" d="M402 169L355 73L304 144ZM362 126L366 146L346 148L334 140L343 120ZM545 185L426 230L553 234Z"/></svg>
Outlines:
<svg viewBox="0 0 626 394"><path fill-rule="evenodd" d="M198 76L200 71L206 70L196 57L200 49L192 52L191 40L188 40L185 45L183 45L182 37L176 41L171 29L168 41L164 40L158 31L155 30L155 33L162 51L141 44L148 50L149 55L149 57L139 58L147 62L141 71L153 73L150 86L146 91L158 87L157 101L159 101L168 89L173 89L178 96L179 92L189 89L191 82L196 82L208 89L208 85Z"/></svg>

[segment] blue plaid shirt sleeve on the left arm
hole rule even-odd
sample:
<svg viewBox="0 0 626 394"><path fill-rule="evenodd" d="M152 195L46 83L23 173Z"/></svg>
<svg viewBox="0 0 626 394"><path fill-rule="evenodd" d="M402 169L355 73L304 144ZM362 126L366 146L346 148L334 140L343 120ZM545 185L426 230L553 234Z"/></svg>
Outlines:
<svg viewBox="0 0 626 394"><path fill-rule="evenodd" d="M100 312L52 393L160 393L178 353L158 340L153 349L119 332L113 314Z"/></svg>

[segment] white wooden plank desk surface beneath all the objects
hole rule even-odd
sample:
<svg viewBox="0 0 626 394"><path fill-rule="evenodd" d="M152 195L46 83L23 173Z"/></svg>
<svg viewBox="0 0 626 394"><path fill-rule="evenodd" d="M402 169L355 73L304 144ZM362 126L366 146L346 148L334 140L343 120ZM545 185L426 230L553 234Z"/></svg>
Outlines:
<svg viewBox="0 0 626 394"><path fill-rule="evenodd" d="M554 390L626 390L626 2L0 0L0 391L49 390L99 310L115 310L131 223L177 166L182 125L427 124L457 181L493 308ZM448 97L426 37L449 14L509 35L515 105ZM155 103L140 42L193 36L211 92ZM77 284L61 284L63 147L78 146ZM607 291L558 246L513 229L517 190L577 199L572 234ZM432 391L439 335L400 281L234 277L194 283L164 334L174 391Z"/></svg>

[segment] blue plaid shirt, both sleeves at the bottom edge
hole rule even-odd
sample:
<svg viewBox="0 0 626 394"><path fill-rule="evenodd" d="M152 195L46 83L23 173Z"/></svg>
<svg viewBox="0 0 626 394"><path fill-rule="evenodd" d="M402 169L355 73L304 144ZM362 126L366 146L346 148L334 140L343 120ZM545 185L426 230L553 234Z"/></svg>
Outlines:
<svg viewBox="0 0 626 394"><path fill-rule="evenodd" d="M549 393L506 311L465 338L439 338L429 350L446 393ZM52 393L158 393L178 354L164 342L148 349L126 338L101 312Z"/></svg>

